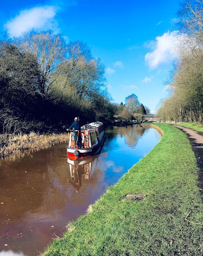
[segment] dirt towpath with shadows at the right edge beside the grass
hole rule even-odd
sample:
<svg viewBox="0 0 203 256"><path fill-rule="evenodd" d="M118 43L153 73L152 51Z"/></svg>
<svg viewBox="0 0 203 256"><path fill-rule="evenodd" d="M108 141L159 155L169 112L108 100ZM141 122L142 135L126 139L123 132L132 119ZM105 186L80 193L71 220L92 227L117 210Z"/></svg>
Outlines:
<svg viewBox="0 0 203 256"><path fill-rule="evenodd" d="M190 140L193 151L195 152L197 158L198 167L200 168L199 182L201 191L203 192L203 132L192 130L183 126L175 127L185 132Z"/></svg>

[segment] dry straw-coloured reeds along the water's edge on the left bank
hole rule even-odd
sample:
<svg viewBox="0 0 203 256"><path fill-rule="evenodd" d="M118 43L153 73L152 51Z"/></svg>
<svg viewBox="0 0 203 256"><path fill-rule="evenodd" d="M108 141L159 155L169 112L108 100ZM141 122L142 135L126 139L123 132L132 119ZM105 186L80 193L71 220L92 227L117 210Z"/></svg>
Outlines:
<svg viewBox="0 0 203 256"><path fill-rule="evenodd" d="M67 133L0 135L0 158L21 156L27 150L36 151L67 141Z"/></svg>

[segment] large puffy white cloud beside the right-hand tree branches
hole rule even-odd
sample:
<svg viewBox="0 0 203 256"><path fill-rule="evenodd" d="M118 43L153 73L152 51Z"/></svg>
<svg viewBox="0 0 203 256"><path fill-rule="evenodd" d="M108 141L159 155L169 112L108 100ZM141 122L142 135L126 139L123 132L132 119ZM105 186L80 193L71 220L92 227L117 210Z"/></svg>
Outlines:
<svg viewBox="0 0 203 256"><path fill-rule="evenodd" d="M152 51L145 55L145 61L149 67L157 68L160 64L174 60L177 56L176 48L179 48L182 39L183 35L179 36L177 31L168 31L162 36L157 36L156 41L145 44L152 48Z"/></svg>

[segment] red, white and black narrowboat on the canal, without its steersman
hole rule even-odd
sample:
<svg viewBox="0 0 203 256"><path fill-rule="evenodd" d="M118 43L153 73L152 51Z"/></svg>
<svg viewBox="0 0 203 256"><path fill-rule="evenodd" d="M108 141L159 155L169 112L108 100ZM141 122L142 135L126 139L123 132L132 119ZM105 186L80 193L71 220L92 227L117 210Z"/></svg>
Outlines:
<svg viewBox="0 0 203 256"><path fill-rule="evenodd" d="M81 127L82 147L76 147L74 131L70 132L67 155L76 159L87 155L99 153L105 137L105 129L101 122L91 123Z"/></svg>

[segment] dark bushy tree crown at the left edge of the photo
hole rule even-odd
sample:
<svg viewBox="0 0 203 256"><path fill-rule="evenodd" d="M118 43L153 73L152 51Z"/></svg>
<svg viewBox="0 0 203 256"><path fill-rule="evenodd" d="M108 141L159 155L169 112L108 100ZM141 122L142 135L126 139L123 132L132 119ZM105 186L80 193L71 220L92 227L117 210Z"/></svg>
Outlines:
<svg viewBox="0 0 203 256"><path fill-rule="evenodd" d="M40 74L36 58L30 53L21 53L7 42L0 43L0 104L10 102L23 104L25 95L37 90Z"/></svg>

